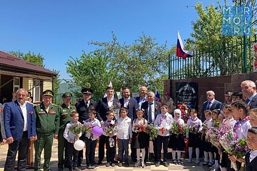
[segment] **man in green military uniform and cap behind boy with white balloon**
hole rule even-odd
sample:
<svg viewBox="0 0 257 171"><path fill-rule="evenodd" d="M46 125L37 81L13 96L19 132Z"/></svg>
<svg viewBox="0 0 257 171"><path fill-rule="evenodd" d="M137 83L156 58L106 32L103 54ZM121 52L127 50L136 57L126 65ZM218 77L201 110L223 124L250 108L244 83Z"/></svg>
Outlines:
<svg viewBox="0 0 257 171"><path fill-rule="evenodd" d="M63 104L60 106L60 126L58 133L58 171L63 171L64 163L64 148L66 145L65 138L63 137L63 132L66 127L66 124L70 122L70 113L76 111L76 107L70 105L72 94L66 92L62 95Z"/></svg>

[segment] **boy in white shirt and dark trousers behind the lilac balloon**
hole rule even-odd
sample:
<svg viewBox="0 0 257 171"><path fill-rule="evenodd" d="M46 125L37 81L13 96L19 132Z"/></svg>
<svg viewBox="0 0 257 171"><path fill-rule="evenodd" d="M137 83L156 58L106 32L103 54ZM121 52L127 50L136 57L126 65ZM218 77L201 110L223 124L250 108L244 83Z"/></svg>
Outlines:
<svg viewBox="0 0 257 171"><path fill-rule="evenodd" d="M88 111L88 117L85 122L92 123L93 127L98 126L101 127L101 124L98 119L95 118L96 111L93 109L90 109ZM94 169L94 155L95 155L95 148L97 144L97 136L94 136L92 134L92 129L86 133L86 162L88 169Z"/></svg>

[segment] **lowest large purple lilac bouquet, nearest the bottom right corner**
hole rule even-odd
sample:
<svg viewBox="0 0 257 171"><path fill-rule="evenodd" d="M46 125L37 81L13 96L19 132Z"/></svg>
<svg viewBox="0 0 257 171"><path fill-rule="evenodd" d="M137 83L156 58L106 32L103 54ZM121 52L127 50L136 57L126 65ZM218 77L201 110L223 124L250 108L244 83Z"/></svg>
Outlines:
<svg viewBox="0 0 257 171"><path fill-rule="evenodd" d="M234 155L237 159L244 158L246 152L250 150L246 139L240 138L232 142L231 149L226 150L228 153ZM245 162L242 162L240 171L245 171Z"/></svg>

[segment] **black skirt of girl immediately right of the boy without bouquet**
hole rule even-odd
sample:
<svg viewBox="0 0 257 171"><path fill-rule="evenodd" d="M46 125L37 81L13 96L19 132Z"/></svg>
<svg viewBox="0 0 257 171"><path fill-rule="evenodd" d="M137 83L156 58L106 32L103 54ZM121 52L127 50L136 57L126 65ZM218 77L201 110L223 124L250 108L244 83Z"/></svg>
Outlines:
<svg viewBox="0 0 257 171"><path fill-rule="evenodd" d="M149 135L145 132L133 132L131 146L135 149L149 148Z"/></svg>

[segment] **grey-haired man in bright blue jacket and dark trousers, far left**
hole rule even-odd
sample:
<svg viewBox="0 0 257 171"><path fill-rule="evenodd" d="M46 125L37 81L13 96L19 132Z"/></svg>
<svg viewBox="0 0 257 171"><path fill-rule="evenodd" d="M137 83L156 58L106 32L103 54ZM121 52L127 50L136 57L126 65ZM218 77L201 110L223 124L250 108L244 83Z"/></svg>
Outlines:
<svg viewBox="0 0 257 171"><path fill-rule="evenodd" d="M9 143L4 171L14 171L17 151L17 170L26 170L29 139L37 139L34 107L26 102L26 98L27 91L20 88L16 92L17 100L5 104L3 109L6 142Z"/></svg>

